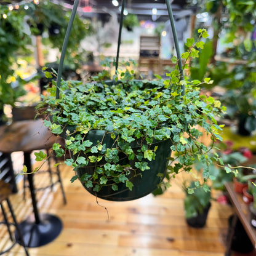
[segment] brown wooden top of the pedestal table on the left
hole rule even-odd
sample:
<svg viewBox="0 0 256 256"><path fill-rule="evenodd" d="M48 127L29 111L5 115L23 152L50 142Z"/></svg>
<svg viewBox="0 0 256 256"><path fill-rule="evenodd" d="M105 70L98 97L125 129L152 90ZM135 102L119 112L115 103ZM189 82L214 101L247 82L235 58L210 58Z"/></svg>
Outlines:
<svg viewBox="0 0 256 256"><path fill-rule="evenodd" d="M0 126L0 151L12 153L49 149L56 138L44 126L42 119L16 121Z"/></svg>

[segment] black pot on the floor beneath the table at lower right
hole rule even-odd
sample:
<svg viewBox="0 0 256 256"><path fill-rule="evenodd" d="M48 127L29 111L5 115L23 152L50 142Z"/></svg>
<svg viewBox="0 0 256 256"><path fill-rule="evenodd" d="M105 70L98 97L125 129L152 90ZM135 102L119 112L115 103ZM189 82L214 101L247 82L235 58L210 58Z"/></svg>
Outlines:
<svg viewBox="0 0 256 256"><path fill-rule="evenodd" d="M231 215L228 218L228 233L231 231L231 225L234 215ZM244 226L240 222L239 218L234 227L234 235L231 242L231 250L240 252L242 254L247 254L254 249L252 242L250 242L249 237L247 236Z"/></svg>

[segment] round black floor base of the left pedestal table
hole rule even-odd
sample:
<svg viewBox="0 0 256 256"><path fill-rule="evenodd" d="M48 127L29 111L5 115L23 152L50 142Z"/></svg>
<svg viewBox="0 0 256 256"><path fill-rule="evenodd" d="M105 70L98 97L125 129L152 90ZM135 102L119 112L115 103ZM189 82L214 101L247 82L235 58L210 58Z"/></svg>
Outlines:
<svg viewBox="0 0 256 256"><path fill-rule="evenodd" d="M34 215L19 224L26 247L39 247L54 241L62 231L62 221L55 215L40 214L39 224L35 223ZM20 239L15 231L18 244Z"/></svg>

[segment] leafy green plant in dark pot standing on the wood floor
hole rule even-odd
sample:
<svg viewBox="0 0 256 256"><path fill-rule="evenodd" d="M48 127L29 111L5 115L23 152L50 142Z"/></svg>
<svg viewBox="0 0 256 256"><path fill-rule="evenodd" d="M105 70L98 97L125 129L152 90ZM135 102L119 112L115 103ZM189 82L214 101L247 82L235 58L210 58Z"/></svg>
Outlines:
<svg viewBox="0 0 256 256"><path fill-rule="evenodd" d="M191 182L190 186L183 187L185 191L184 209L186 223L193 228L202 228L206 225L207 215L212 199L210 187L201 186L199 182Z"/></svg>

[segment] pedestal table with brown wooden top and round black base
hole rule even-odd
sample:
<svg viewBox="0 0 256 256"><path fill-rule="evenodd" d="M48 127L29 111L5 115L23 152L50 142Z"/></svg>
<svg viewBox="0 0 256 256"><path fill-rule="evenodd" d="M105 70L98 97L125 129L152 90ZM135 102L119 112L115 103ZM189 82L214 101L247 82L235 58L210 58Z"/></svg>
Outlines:
<svg viewBox="0 0 256 256"><path fill-rule="evenodd" d="M41 119L17 121L10 126L0 126L0 151L12 153L23 151L24 165L31 168L31 152L49 149L56 137L44 126ZM62 231L62 221L55 215L39 214L34 193L33 174L28 174L34 214L22 223L20 230L27 247L39 247L52 242ZM19 241L18 234L15 238Z"/></svg>

